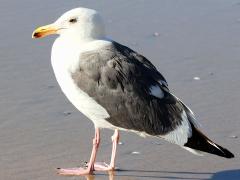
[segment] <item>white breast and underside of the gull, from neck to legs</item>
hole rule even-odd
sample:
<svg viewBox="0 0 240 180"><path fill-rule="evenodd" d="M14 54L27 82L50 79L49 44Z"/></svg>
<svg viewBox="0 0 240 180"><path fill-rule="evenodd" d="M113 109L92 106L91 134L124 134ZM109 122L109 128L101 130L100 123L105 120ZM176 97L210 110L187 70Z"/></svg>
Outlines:
<svg viewBox="0 0 240 180"><path fill-rule="evenodd" d="M94 46L90 46L94 48ZM89 49L89 48L87 48ZM58 38L52 48L52 67L63 93L69 101L85 116L93 121L96 127L113 128L105 119L108 112L73 81L71 74L78 68L79 57L86 48L66 43Z"/></svg>

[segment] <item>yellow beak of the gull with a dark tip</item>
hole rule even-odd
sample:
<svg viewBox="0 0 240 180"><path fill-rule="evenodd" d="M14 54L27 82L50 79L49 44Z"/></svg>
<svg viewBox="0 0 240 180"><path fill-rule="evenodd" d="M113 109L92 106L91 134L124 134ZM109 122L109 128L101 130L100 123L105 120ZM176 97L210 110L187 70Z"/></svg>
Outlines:
<svg viewBox="0 0 240 180"><path fill-rule="evenodd" d="M42 38L50 34L56 34L58 29L54 24L42 26L33 31L32 38Z"/></svg>

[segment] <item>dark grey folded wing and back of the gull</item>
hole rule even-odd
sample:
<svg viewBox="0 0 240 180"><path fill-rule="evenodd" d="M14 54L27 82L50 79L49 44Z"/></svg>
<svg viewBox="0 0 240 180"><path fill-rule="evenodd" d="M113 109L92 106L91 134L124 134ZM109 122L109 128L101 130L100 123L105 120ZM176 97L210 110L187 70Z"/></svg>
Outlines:
<svg viewBox="0 0 240 180"><path fill-rule="evenodd" d="M107 110L107 121L115 126L164 135L181 124L183 105L169 93L165 78L128 47L113 42L84 53L72 77ZM163 96L152 93L153 87Z"/></svg>

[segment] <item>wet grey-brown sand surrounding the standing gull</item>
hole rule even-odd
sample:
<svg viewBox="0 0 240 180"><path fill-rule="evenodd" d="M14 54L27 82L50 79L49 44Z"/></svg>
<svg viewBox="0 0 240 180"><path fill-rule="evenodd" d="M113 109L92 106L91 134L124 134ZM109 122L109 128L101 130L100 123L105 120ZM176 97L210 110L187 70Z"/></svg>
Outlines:
<svg viewBox="0 0 240 180"><path fill-rule="evenodd" d="M236 157L199 157L121 132L121 171L57 175L58 167L88 160L94 127L55 80L50 53L56 37L32 40L31 34L79 6L101 12L112 39L151 60L202 131ZM1 180L240 179L240 0L0 0L0 22ZM102 131L98 160L110 160L112 133Z"/></svg>

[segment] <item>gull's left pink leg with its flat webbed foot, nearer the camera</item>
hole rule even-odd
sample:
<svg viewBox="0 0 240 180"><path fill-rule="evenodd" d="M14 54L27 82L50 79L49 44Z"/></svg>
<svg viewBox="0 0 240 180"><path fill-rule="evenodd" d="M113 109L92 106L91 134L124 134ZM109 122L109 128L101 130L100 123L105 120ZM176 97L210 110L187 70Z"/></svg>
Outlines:
<svg viewBox="0 0 240 180"><path fill-rule="evenodd" d="M100 144L100 130L99 128L95 129L95 137L93 139L93 148L91 157L88 163L87 168L68 168L68 169L58 169L58 174L60 175L69 175L69 176L79 176L79 175L88 175L93 174L94 171L94 162L96 160L97 150Z"/></svg>

